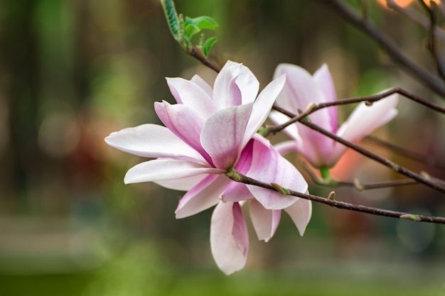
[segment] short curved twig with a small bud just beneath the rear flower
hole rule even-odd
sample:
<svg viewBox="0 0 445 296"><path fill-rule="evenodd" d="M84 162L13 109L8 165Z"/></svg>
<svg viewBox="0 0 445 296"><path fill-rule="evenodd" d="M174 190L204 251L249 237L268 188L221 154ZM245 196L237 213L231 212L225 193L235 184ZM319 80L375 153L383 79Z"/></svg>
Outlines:
<svg viewBox="0 0 445 296"><path fill-rule="evenodd" d="M337 181L337 180L321 180L311 168L309 168L309 165L306 165L303 161L299 162L301 167L308 173L309 177L311 177L312 182L314 182L316 185L321 185L325 187L331 187L331 188L337 188L337 187L354 187L358 191L363 190L373 190L373 189L382 189L382 188L388 188L388 187L397 187L397 186L404 186L404 185L415 185L419 184L416 180L412 179L404 179L404 180L397 180L397 181L390 181L390 182L381 182L381 183L373 183L373 184L363 184L358 179L355 179L354 182L343 182L343 181Z"/></svg>

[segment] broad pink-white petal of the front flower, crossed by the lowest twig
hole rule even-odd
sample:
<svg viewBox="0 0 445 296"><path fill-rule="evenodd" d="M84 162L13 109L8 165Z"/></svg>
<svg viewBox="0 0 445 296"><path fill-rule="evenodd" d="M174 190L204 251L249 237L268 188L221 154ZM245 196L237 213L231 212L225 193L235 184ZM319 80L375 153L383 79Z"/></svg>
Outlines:
<svg viewBox="0 0 445 296"><path fill-rule="evenodd" d="M306 192L308 185L294 165L279 155L272 146L266 146L261 141L252 141L252 165L247 176L262 182L276 182L284 188L298 192ZM298 199L254 185L247 187L266 209L284 209Z"/></svg>

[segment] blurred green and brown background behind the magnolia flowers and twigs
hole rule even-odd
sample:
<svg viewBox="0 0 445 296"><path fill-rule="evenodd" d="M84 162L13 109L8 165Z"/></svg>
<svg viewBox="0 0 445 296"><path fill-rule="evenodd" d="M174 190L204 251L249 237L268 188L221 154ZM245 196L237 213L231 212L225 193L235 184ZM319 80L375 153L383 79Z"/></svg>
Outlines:
<svg viewBox="0 0 445 296"><path fill-rule="evenodd" d="M422 28L363 2L405 53L434 69ZM243 62L262 87L279 62L310 72L326 62L340 98L404 87L444 104L318 1L178 0L176 8L215 18L219 41L210 57ZM444 295L444 226L319 204L304 237L287 216L269 243L250 229L246 268L223 275L210 254L211 211L174 219L183 192L124 185L141 159L103 141L112 131L159 123L154 102L173 102L164 77L195 73L210 83L215 77L171 38L159 1L0 1L0 295ZM377 136L444 159L444 116L406 99L399 110ZM349 111L342 108L342 118ZM355 153L334 174L398 177ZM329 191L311 186L314 194ZM345 201L445 215L444 195L422 186L336 192Z"/></svg>

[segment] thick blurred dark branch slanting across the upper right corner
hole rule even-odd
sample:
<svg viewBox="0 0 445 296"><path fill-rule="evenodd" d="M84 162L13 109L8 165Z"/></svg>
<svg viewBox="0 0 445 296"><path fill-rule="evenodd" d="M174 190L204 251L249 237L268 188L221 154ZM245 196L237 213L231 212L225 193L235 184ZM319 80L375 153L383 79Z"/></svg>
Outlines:
<svg viewBox="0 0 445 296"><path fill-rule="evenodd" d="M368 19L363 18L360 14L350 9L347 4L339 0L319 0L321 3L331 6L333 9L343 16L347 21L359 28L364 33L368 34L373 40L375 40L387 53L392 57L392 60L400 63L405 67L411 75L417 77L429 88L431 88L436 94L445 98L445 85L437 79L437 77L422 67L419 67L415 62L409 59L406 55L403 55L400 48L389 38L383 34L373 23Z"/></svg>

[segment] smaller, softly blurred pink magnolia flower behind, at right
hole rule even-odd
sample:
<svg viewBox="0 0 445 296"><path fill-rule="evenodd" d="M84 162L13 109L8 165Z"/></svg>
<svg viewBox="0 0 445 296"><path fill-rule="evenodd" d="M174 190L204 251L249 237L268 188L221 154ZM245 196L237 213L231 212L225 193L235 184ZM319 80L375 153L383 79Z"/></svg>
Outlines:
<svg viewBox="0 0 445 296"><path fill-rule="evenodd" d="M322 65L313 75L303 68L280 64L274 77L286 74L286 84L277 98L277 105L298 114L305 111L309 104L333 102L336 100L336 89L327 65ZM337 107L331 106L319 109L309 115L311 122L335 133L350 142L360 141L369 133L386 124L397 115L398 95L392 94L386 99L366 106L358 104L349 118L338 128ZM277 111L272 111L270 119L277 124L283 124L289 117ZM341 155L347 149L343 144L324 136L311 128L296 123L284 129L291 141L279 143L276 148L280 153L296 150L313 165L314 168L331 168L336 165Z"/></svg>

